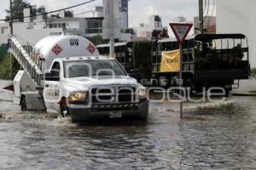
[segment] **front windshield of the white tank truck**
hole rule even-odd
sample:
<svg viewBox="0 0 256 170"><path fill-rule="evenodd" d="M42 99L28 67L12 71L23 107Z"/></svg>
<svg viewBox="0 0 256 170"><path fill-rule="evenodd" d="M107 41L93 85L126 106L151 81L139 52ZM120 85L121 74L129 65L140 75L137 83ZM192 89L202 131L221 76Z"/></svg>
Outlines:
<svg viewBox="0 0 256 170"><path fill-rule="evenodd" d="M65 61L66 78L96 76L126 76L123 68L114 59L87 59Z"/></svg>

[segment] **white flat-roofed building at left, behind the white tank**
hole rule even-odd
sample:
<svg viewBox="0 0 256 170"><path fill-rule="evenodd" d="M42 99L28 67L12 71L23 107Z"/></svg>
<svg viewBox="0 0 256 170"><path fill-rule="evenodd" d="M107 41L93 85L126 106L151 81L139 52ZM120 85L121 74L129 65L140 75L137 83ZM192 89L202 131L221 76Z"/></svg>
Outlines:
<svg viewBox="0 0 256 170"><path fill-rule="evenodd" d="M37 14L44 14L45 8L38 8ZM31 16L33 10L31 8L24 9L24 22L14 22L14 34L21 43L27 42L34 45L39 40L49 35L70 34L81 37L92 37L102 34L102 11L101 7L94 10L95 17L67 17L65 12L61 12L55 17L47 15ZM0 44L7 43L9 36L9 23L0 24Z"/></svg>

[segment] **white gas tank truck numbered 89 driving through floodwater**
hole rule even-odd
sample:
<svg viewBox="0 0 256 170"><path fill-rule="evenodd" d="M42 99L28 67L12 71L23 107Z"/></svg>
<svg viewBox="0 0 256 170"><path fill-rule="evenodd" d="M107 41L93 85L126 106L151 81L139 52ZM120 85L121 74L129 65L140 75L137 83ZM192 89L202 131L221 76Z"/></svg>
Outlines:
<svg viewBox="0 0 256 170"><path fill-rule="evenodd" d="M44 103L47 111L71 116L73 122L126 117L147 120L146 88L129 77L117 60L100 56L87 39L46 37L36 48L44 58L43 102L33 95L38 96L33 93L36 86L27 72L20 71L15 77L15 96L22 110L35 111Z"/></svg>

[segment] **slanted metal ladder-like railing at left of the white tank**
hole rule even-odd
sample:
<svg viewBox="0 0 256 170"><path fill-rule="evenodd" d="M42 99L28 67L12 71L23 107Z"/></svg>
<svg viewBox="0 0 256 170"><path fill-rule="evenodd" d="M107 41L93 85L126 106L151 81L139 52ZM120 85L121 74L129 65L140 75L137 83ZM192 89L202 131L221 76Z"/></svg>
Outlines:
<svg viewBox="0 0 256 170"><path fill-rule="evenodd" d="M26 46L22 47L20 42L15 37L9 38L9 51L15 56L15 59L20 63L21 67L27 72L32 80L42 88L42 78L44 72L42 71L43 61L42 55L35 48Z"/></svg>

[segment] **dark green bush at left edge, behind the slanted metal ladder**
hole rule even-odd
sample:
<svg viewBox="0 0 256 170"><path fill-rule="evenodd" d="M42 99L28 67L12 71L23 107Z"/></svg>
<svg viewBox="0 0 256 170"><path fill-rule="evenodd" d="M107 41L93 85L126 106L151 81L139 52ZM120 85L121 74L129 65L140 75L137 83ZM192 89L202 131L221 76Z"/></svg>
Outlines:
<svg viewBox="0 0 256 170"><path fill-rule="evenodd" d="M12 69L10 68L10 60ZM13 56L10 59L9 54L6 54L3 61L0 62L0 79L13 80L19 70L20 65L16 59ZM12 73L12 77L10 77L10 72Z"/></svg>

